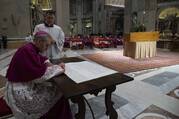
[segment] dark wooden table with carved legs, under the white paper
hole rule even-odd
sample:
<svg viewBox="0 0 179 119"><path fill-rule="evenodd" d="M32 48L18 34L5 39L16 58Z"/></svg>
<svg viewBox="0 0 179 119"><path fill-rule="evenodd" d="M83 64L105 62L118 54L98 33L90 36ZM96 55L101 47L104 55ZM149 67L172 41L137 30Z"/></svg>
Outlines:
<svg viewBox="0 0 179 119"><path fill-rule="evenodd" d="M63 62L80 62L83 59L73 57L62 59ZM53 61L58 63L59 61ZM106 114L110 119L117 119L118 115L113 107L113 102L111 101L112 92L115 91L116 85L122 84L128 81L132 81L133 78L128 77L121 73L115 73L108 76L100 77L90 81L75 83L65 74L55 77L54 80L59 84L61 91L63 92L65 98L71 99L73 103L78 105L78 113L75 114L76 119L85 119L86 105L84 96L85 94L98 95L103 89L105 92L105 106Z"/></svg>

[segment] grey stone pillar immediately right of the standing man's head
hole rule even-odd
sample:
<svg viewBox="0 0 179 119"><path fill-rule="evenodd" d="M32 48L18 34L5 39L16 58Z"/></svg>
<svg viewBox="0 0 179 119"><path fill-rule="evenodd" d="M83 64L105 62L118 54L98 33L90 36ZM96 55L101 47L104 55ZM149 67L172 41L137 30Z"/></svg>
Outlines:
<svg viewBox="0 0 179 119"><path fill-rule="evenodd" d="M56 22L65 35L70 34L70 9L69 0L56 0Z"/></svg>

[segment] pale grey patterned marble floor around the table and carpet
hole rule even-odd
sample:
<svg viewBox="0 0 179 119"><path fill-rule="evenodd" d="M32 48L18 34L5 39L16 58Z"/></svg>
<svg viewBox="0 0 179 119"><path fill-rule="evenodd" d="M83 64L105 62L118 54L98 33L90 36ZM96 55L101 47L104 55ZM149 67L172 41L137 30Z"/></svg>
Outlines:
<svg viewBox="0 0 179 119"><path fill-rule="evenodd" d="M66 50L65 57L117 49ZM0 75L4 75L15 50L0 52ZM179 65L131 72L126 75L133 81L118 85L112 95L119 119L179 119ZM85 95L96 119L108 119L105 115L104 90L98 97ZM71 104L73 114L77 106ZM13 117L11 118L13 119ZM92 119L87 107L86 119Z"/></svg>

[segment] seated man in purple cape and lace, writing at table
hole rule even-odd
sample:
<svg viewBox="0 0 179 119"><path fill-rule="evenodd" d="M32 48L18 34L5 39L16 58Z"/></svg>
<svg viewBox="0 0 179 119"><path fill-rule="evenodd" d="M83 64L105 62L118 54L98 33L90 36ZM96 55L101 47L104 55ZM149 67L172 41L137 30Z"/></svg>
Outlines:
<svg viewBox="0 0 179 119"><path fill-rule="evenodd" d="M64 65L53 65L39 53L47 50L51 36L39 31L34 41L17 50L6 77L5 99L16 119L71 119L69 103L49 80L64 72ZM48 80L48 81L47 81Z"/></svg>

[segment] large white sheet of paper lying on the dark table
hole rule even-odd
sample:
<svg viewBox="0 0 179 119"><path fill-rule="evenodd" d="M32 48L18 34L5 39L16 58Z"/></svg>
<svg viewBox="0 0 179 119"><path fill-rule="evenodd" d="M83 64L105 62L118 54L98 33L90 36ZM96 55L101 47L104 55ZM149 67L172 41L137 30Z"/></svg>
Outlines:
<svg viewBox="0 0 179 119"><path fill-rule="evenodd" d="M81 83L114 73L117 73L117 71L89 61L65 64L65 74L76 83Z"/></svg>

